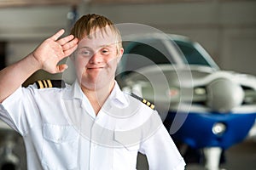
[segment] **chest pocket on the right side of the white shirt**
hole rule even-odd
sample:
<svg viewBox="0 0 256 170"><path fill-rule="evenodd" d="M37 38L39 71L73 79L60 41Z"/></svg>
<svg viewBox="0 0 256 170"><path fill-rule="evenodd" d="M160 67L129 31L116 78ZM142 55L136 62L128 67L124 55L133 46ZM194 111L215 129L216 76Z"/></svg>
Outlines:
<svg viewBox="0 0 256 170"><path fill-rule="evenodd" d="M130 133L120 131L114 132L114 141L117 142L113 151L113 170L131 170L136 169L137 153L140 144L137 139L131 139Z"/></svg>

